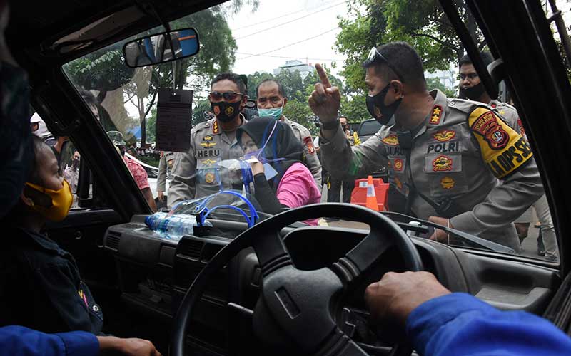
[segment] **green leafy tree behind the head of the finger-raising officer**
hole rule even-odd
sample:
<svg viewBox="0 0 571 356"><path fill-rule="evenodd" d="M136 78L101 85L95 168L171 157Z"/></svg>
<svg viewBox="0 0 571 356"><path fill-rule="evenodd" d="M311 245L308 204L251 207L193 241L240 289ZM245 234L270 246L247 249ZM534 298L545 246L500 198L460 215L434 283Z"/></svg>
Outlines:
<svg viewBox="0 0 571 356"><path fill-rule="evenodd" d="M463 1L458 12L480 50L485 41ZM380 43L405 41L423 58L425 70L446 69L463 56L464 47L437 0L356 0L348 4L348 15L340 19L335 42L347 56L342 74L350 90L365 89L364 70L369 48Z"/></svg>

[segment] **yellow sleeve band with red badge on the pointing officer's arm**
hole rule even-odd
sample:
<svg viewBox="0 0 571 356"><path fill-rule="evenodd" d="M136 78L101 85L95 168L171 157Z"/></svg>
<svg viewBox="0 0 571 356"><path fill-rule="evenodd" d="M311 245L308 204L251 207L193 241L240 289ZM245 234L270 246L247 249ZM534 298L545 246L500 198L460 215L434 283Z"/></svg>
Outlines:
<svg viewBox="0 0 571 356"><path fill-rule="evenodd" d="M468 126L485 164L497 178L507 177L533 157L527 140L488 108L480 106L470 112Z"/></svg>

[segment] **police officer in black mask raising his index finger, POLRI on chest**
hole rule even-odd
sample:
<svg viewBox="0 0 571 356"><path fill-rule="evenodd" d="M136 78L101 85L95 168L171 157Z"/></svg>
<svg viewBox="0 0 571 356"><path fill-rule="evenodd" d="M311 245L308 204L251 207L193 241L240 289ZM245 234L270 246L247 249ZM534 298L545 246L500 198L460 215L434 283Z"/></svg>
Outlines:
<svg viewBox="0 0 571 356"><path fill-rule="evenodd" d="M371 172L386 157L392 183L421 219L520 251L510 222L543 190L520 132L487 105L429 93L422 61L408 43L372 48L364 66L370 114L383 125L394 115L395 125L351 149L337 119L339 90L317 65L320 83L309 104L322 122L320 148L330 174ZM447 241L447 234L436 230L430 238Z"/></svg>

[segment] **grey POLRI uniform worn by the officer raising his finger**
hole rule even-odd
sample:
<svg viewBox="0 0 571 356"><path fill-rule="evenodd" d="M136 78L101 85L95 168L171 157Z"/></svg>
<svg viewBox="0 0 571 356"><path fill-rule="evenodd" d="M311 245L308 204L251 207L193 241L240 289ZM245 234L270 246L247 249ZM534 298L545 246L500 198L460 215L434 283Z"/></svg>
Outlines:
<svg viewBox="0 0 571 356"><path fill-rule="evenodd" d="M446 197L456 206L450 218L456 229L520 251L511 221L543 194L530 145L489 106L448 99L439 90L430 95L433 110L409 140L394 126L353 150L342 130L321 137L324 166L340 177L372 172L388 159L390 182L405 197L412 189L433 202ZM420 219L438 216L420 194L410 195L412 211Z"/></svg>

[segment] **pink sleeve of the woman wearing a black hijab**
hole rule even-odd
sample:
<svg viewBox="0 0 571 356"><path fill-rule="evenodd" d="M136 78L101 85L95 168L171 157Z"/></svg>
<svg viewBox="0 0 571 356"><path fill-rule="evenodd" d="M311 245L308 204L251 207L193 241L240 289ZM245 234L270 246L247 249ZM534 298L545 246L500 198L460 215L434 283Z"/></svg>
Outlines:
<svg viewBox="0 0 571 356"><path fill-rule="evenodd" d="M290 208L318 203L321 199L311 172L301 163L292 164L283 174L276 196L281 204Z"/></svg>

